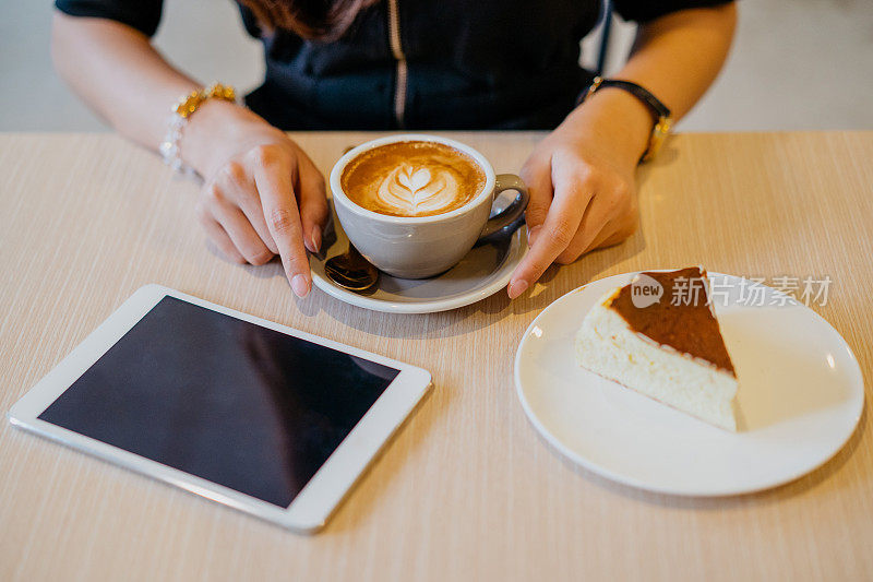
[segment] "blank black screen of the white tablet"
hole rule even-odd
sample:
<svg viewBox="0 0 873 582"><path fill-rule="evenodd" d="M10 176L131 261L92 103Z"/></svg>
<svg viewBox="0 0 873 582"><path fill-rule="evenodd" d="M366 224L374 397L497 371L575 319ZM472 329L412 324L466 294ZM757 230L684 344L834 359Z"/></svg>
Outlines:
<svg viewBox="0 0 873 582"><path fill-rule="evenodd" d="M39 418L287 507L398 373L165 297Z"/></svg>

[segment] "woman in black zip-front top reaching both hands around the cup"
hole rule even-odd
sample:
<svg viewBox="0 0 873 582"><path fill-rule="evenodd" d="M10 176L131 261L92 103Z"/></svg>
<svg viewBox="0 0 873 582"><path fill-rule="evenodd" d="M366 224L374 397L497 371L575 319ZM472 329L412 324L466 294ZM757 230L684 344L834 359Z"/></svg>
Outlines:
<svg viewBox="0 0 873 582"><path fill-rule="evenodd" d="M723 0L615 0L639 23L617 79L684 115L715 79L733 35ZM156 149L167 110L202 85L151 46L162 0L57 0L52 54L62 76L124 135ZM180 139L204 179L198 215L229 258L280 254L298 296L304 247L321 245L324 178L279 130L550 129L522 169L531 251L509 287L522 294L554 261L617 244L636 228L634 169L650 109L621 88L576 106L591 74L579 40L597 0L244 0L266 75L246 97L201 105Z"/></svg>

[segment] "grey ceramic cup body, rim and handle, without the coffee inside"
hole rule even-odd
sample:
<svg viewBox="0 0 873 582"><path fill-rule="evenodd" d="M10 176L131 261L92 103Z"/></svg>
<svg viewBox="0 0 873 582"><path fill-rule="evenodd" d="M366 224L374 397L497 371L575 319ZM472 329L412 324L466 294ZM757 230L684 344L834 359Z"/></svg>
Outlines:
<svg viewBox="0 0 873 582"><path fill-rule="evenodd" d="M432 216L392 216L367 210L343 191L343 169L363 152L396 142L424 141L452 146L470 156L486 175L485 187L473 200L453 211ZM491 205L504 190L516 190L516 199L489 218ZM372 140L346 152L331 170L331 192L343 229L355 248L378 269L403 278L424 278L454 266L477 240L515 223L527 206L524 182L512 174L494 175L488 159L449 138L407 133Z"/></svg>

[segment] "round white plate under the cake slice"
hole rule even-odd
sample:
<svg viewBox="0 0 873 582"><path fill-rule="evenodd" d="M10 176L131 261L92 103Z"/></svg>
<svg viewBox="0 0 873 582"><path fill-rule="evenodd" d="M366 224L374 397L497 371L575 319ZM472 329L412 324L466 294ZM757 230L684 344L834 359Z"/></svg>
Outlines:
<svg viewBox="0 0 873 582"><path fill-rule="evenodd" d="M729 292L714 305L740 381L737 433L579 368L573 341L582 320L603 293L632 276L564 295L534 320L518 346L518 397L561 453L634 487L726 496L793 480L842 448L864 403L861 369L848 344L797 302L744 305L740 277L709 274ZM766 294L767 302L780 295L769 287Z"/></svg>

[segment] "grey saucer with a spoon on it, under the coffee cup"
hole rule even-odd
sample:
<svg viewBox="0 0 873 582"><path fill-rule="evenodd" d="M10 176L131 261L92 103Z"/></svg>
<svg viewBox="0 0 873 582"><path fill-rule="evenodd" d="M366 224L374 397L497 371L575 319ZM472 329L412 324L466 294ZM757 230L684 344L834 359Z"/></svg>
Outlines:
<svg viewBox="0 0 873 582"><path fill-rule="evenodd" d="M310 254L312 282L340 301L374 311L433 313L475 304L505 288L527 252L527 228L522 226L500 244L474 248L442 275L407 280L380 273L375 289L361 295L339 287L324 273L325 260L348 248L348 238L333 212L333 204L331 212L336 239L325 236L323 254Z"/></svg>

